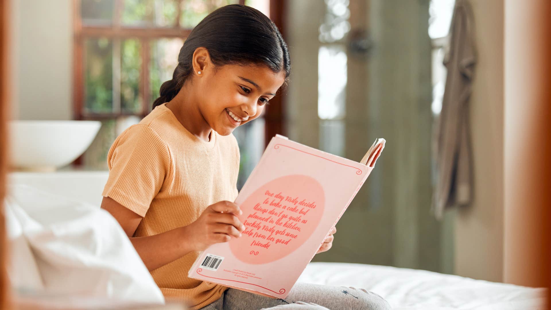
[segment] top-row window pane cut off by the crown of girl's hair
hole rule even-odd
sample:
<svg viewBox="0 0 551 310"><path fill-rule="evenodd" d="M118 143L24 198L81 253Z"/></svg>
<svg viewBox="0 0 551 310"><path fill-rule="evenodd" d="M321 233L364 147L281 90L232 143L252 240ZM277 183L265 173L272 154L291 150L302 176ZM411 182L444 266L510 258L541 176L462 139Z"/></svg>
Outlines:
<svg viewBox="0 0 551 310"><path fill-rule="evenodd" d="M213 10L228 4L239 3L239 0L187 0L182 1L180 26L193 28Z"/></svg>

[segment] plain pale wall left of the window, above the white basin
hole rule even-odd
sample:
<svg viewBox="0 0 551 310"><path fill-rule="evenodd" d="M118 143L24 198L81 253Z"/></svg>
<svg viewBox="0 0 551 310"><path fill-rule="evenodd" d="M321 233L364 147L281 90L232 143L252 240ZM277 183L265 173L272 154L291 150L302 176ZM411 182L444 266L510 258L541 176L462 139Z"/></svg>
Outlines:
<svg viewBox="0 0 551 310"><path fill-rule="evenodd" d="M72 1L12 4L14 118L72 119Z"/></svg>

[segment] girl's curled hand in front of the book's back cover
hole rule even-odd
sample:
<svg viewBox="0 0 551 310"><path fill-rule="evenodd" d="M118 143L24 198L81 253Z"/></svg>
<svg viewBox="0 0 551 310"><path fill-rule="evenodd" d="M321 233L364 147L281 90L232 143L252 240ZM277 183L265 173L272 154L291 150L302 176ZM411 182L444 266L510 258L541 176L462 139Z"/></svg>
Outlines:
<svg viewBox="0 0 551 310"><path fill-rule="evenodd" d="M245 225L237 215L242 213L239 206L228 200L208 206L195 222L185 226L187 242L190 242L193 250L202 251L214 243L241 237Z"/></svg>

